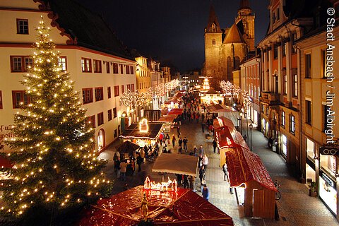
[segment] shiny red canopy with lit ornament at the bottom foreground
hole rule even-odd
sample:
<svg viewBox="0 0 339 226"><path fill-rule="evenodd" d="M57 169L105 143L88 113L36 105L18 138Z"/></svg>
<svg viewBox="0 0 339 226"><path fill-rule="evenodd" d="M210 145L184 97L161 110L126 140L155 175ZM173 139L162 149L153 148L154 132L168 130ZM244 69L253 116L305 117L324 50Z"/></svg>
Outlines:
<svg viewBox="0 0 339 226"><path fill-rule="evenodd" d="M190 189L160 192L144 190L143 186L121 192L97 202L87 210L80 226L138 225L142 219L143 192L148 201L148 218L155 225L165 226L229 226L232 218Z"/></svg>

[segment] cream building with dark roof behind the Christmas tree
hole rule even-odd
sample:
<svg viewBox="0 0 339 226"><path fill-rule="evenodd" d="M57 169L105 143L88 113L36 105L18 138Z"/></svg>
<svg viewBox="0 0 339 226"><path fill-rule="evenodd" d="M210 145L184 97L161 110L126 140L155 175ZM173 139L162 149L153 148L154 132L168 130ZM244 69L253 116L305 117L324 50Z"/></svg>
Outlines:
<svg viewBox="0 0 339 226"><path fill-rule="evenodd" d="M43 16L61 53L59 64L75 81L74 89L95 126L96 148L104 150L129 123L129 108L120 105L119 97L124 90L135 89L136 61L100 16L73 0L67 1L67 6L63 2L0 1L0 30L6 31L0 33L0 59L4 62L0 64L0 136L13 136L8 129L18 102L29 102L20 81L32 66L35 27ZM72 13L74 8L76 14Z"/></svg>

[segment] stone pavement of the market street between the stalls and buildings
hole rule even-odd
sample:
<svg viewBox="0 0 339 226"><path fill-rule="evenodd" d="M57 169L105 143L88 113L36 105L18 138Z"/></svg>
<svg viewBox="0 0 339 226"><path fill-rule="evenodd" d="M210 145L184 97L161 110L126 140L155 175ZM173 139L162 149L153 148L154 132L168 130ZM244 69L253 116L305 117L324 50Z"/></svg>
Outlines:
<svg viewBox="0 0 339 226"><path fill-rule="evenodd" d="M245 129L244 126L246 125L244 123L245 122L243 120L243 131ZM220 210L227 213L227 215L230 215L234 220L234 225L339 225L330 211L319 200L319 198L312 198L308 196L307 186L305 184L300 184L296 181L296 179L290 176L283 157L265 148L267 140L263 137L263 134L259 131L256 131L256 129L252 130L252 149L254 153L257 153L261 157L261 160L268 169L273 181L278 179L280 184L282 198L277 201L280 221L245 218L243 216L242 206L237 204L235 193L230 194L230 187L228 183L223 180L223 172L219 167L219 155L213 153L213 138L207 136L208 131L205 130L205 133L202 133L201 123L196 124L194 121L191 123L185 122L181 126L181 133L182 138L186 136L189 139L189 150L193 149L194 145L197 147L199 147L201 144L203 145L203 148L208 154L209 159L209 165L206 171L206 184L210 189L210 203L213 203L215 206L220 208ZM177 131L174 131L174 134L177 135ZM172 138L172 133L169 133L169 137ZM100 155L100 157L109 160L106 171L107 177L114 181L114 189L112 194L117 194L120 191L123 191L124 188L124 182L121 182L121 180L117 179L113 167L112 159L115 152L115 147L117 145L119 145L119 142L113 143L109 146L109 148L107 148L107 150L105 150L105 152ZM177 147L173 148L172 142L168 149L171 149L173 152L177 152ZM145 162L145 164L142 165L141 172L135 172L133 176L127 176L126 182L129 184L129 186L133 187L143 184L146 176L150 176L150 178L155 180L155 182L160 182L161 175L151 172L153 164L153 162ZM169 174L169 177L175 178L174 174ZM197 193L201 194L200 182L197 182L197 186Z"/></svg>

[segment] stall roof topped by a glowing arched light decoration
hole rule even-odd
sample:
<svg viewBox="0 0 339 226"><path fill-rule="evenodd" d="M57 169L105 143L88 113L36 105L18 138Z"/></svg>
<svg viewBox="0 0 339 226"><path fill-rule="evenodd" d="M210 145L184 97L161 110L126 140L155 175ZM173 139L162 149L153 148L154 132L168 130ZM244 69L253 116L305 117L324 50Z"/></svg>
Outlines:
<svg viewBox="0 0 339 226"><path fill-rule="evenodd" d="M140 132L137 123L131 124L120 136L121 138L150 138L155 139L162 129L161 122L148 123L148 132Z"/></svg>

